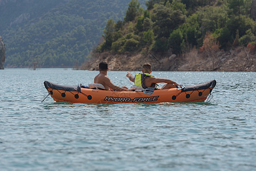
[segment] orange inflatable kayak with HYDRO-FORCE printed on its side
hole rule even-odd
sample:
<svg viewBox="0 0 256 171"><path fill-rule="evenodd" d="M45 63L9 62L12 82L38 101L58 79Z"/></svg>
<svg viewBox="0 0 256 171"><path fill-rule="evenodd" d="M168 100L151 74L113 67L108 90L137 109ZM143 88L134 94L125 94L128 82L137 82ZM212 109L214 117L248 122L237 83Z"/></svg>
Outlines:
<svg viewBox="0 0 256 171"><path fill-rule="evenodd" d="M163 103L163 102L203 102L216 86L216 80L170 89L145 89L145 91L108 91L83 88L78 86L62 86L44 82L48 93L57 102L68 103Z"/></svg>

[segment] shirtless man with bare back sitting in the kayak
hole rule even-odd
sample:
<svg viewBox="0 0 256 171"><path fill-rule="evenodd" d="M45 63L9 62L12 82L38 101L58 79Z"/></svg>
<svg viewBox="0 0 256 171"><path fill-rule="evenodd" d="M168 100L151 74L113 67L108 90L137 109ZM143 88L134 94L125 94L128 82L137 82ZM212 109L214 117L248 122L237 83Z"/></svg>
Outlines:
<svg viewBox="0 0 256 171"><path fill-rule="evenodd" d="M113 84L110 79L107 77L108 64L105 62L100 62L99 64L100 73L95 76L94 83L102 84L105 89L109 90L109 88L115 91L132 91L133 89L128 89L127 87L118 87Z"/></svg>

